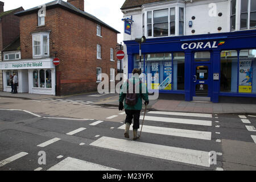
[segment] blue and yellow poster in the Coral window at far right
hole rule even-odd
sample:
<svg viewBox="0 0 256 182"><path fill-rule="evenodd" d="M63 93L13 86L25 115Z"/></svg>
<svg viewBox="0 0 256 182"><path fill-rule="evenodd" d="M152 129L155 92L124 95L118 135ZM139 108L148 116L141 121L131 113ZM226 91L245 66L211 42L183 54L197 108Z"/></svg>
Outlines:
<svg viewBox="0 0 256 182"><path fill-rule="evenodd" d="M239 92L251 93L251 83L253 82L252 60L241 60L239 68Z"/></svg>

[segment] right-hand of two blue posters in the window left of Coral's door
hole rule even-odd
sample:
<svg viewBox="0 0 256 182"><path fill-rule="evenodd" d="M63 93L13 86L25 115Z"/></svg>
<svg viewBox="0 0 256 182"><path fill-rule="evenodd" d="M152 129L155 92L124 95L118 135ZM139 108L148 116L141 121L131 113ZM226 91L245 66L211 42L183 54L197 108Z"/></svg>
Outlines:
<svg viewBox="0 0 256 182"><path fill-rule="evenodd" d="M172 63L171 61L164 63L164 81L159 85L160 90L172 89Z"/></svg>

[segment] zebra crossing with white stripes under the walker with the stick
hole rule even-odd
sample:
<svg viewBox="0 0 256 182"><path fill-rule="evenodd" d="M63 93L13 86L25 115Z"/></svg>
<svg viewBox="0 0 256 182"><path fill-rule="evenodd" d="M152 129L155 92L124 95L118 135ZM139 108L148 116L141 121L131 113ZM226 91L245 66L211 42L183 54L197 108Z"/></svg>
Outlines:
<svg viewBox="0 0 256 182"><path fill-rule="evenodd" d="M118 115L119 117L123 116L122 113ZM141 117L142 119L143 117ZM222 168L218 158L222 153L220 143L216 142L216 140L220 140L218 138L220 133L216 134L218 133L218 128L215 127L216 122L214 121L216 121L216 118L212 114L149 111L146 113L142 137L137 141L123 138L123 130L125 129L123 123L107 121L85 121L88 126L69 131L66 135L86 135L88 131L96 131L96 127L106 131L110 129L110 125L113 125L112 131L108 131L108 133L102 132L100 135L94 133L94 136L96 135L97 137L95 136L93 142L87 145L80 143L80 147L86 146L92 150L100 150L102 153L108 151L113 155L121 153L129 156L129 158L136 155L138 158L143 157L143 160L145 158L148 160L160 159L166 161L170 166L185 165L197 169L203 167L203 169L220 170ZM133 129L131 128L130 130ZM60 142L60 140L61 138L53 138L41 144L39 143L37 147L53 147L55 142ZM212 158L213 152L217 155L215 159ZM11 163L26 156L25 154L27 155L28 153L26 151L21 152L18 156L13 156L13 160L4 159L0 162L0 167L7 164L7 162ZM216 163L212 162L212 159L216 160ZM42 169L35 168L35 170ZM153 169L156 170L155 168ZM46 170L115 171L126 170L126 168L125 165L117 168L108 166L108 163L102 165L102 162L97 163L95 160L90 162L74 158L71 155L64 155L63 160Z"/></svg>

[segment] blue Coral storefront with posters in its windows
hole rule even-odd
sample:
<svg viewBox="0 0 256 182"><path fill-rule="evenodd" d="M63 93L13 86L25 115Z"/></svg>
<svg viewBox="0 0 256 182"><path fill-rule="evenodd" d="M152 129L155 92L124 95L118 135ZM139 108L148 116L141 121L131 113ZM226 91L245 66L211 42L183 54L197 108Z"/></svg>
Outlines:
<svg viewBox="0 0 256 182"><path fill-rule="evenodd" d="M125 41L128 73L139 67L139 45ZM147 39L143 73L159 73L160 93L218 102L220 96L256 97L256 30Z"/></svg>

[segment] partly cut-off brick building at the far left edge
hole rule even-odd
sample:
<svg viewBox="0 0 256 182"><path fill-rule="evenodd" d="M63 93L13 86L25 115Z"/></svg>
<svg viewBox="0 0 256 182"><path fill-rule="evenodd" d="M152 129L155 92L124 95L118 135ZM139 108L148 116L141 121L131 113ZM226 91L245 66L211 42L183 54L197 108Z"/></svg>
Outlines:
<svg viewBox="0 0 256 182"><path fill-rule="evenodd" d="M4 2L0 1L0 61L2 61L2 51L19 36L19 17L14 14L24 10L19 7L14 10L3 11ZM0 69L0 91L3 91L3 77Z"/></svg>

